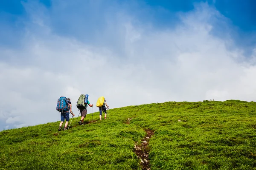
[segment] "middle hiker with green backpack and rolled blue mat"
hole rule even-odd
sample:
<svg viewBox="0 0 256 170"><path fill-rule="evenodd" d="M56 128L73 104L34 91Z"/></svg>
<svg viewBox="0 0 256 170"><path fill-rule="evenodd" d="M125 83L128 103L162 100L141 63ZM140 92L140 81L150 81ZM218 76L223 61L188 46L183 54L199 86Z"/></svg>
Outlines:
<svg viewBox="0 0 256 170"><path fill-rule="evenodd" d="M89 100L88 100L88 94L84 95L81 94L76 107L79 109L80 113L81 113L81 120L78 122L79 125L84 125L84 118L86 117L87 114L87 105L89 105L90 107L93 107L93 104L90 104Z"/></svg>

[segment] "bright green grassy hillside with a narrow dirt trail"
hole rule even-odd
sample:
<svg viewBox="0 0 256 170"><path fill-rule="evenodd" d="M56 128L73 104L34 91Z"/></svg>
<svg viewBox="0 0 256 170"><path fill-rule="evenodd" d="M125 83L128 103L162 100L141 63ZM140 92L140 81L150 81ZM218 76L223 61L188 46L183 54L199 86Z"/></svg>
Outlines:
<svg viewBox="0 0 256 170"><path fill-rule="evenodd" d="M153 103L93 119L0 132L0 170L256 170L256 102Z"/></svg>

